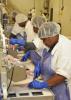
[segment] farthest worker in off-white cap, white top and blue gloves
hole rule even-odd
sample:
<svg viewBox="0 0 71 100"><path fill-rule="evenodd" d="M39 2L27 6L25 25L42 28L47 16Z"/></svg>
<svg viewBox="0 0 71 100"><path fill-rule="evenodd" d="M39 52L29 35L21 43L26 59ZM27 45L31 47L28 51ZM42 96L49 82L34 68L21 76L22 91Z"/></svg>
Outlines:
<svg viewBox="0 0 71 100"><path fill-rule="evenodd" d="M28 18L24 14L19 13L16 15L15 20L16 22L14 24L14 27L10 35L10 44L11 45L18 44L19 46L24 46L27 39L25 26Z"/></svg>

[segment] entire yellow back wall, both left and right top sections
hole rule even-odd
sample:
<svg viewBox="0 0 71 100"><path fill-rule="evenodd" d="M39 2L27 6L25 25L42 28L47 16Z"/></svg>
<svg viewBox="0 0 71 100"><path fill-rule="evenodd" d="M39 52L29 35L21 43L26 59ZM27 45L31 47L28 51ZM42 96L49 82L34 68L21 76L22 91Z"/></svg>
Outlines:
<svg viewBox="0 0 71 100"><path fill-rule="evenodd" d="M29 9L34 7L34 0L8 0L13 9L27 14ZM44 0L35 0L35 8L37 14L43 9ZM53 8L53 20L62 24L62 34L71 36L71 0L64 0L64 10L62 8L62 0L50 0L50 8Z"/></svg>

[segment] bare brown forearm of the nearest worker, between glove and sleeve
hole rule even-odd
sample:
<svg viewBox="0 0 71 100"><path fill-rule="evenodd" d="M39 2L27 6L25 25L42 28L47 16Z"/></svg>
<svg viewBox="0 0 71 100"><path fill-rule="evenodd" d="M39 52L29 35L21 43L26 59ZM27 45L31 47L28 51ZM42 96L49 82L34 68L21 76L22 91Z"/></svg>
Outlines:
<svg viewBox="0 0 71 100"><path fill-rule="evenodd" d="M47 83L50 87L56 86L60 83L62 83L66 78L62 75L55 74L50 79L47 80Z"/></svg>

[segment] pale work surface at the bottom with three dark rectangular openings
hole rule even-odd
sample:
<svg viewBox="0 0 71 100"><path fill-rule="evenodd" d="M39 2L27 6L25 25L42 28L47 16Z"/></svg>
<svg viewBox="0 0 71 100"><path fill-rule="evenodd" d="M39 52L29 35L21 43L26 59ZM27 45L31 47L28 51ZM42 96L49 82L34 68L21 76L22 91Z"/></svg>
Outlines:
<svg viewBox="0 0 71 100"><path fill-rule="evenodd" d="M26 86L11 87L7 100L54 100L49 89L29 89Z"/></svg>

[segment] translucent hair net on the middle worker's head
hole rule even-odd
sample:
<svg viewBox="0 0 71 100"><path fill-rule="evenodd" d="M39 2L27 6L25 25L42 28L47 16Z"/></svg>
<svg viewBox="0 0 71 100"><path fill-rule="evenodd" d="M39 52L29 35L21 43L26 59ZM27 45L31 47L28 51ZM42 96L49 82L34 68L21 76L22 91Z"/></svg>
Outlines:
<svg viewBox="0 0 71 100"><path fill-rule="evenodd" d="M44 22L46 22L46 20L41 16L36 16L32 19L32 25L37 28L39 28Z"/></svg>

